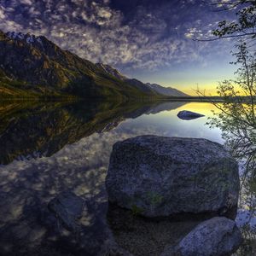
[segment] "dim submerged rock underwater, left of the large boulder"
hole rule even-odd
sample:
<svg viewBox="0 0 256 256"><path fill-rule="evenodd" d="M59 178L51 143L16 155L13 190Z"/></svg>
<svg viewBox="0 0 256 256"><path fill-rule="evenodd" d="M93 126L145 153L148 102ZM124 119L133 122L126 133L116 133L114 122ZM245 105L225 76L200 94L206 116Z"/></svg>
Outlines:
<svg viewBox="0 0 256 256"><path fill-rule="evenodd" d="M77 220L82 217L84 201L70 191L62 192L52 201L49 201L48 208L55 213L55 217L61 221L67 230L76 231L79 228Z"/></svg>

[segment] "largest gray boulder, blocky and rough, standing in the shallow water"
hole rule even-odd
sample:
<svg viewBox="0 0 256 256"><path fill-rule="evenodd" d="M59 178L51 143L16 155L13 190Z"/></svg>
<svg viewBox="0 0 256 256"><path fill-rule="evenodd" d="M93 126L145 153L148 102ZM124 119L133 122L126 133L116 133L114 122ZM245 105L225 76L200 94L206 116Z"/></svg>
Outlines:
<svg viewBox="0 0 256 256"><path fill-rule="evenodd" d="M238 201L238 166L206 139L134 137L113 145L106 187L110 202L145 217L229 215Z"/></svg>

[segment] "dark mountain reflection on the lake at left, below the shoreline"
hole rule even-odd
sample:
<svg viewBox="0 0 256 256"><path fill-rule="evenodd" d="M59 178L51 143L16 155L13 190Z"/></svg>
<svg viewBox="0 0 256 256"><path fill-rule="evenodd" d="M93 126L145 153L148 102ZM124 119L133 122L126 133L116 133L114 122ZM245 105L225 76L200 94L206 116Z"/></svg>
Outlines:
<svg viewBox="0 0 256 256"><path fill-rule="evenodd" d="M75 143L94 132L110 131L124 119L172 110L183 104L185 102L152 105L76 102L65 105L57 102L24 108L20 103L13 103L0 108L0 163L50 156L66 144Z"/></svg>

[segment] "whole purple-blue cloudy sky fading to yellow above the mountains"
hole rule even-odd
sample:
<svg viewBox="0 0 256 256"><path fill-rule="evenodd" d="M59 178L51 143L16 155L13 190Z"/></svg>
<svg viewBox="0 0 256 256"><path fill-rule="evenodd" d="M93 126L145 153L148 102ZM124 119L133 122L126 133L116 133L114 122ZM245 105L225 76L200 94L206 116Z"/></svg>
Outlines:
<svg viewBox="0 0 256 256"><path fill-rule="evenodd" d="M235 17L202 0L0 0L3 32L44 35L130 78L190 95L197 87L214 95L219 81L233 77L232 41L193 39Z"/></svg>

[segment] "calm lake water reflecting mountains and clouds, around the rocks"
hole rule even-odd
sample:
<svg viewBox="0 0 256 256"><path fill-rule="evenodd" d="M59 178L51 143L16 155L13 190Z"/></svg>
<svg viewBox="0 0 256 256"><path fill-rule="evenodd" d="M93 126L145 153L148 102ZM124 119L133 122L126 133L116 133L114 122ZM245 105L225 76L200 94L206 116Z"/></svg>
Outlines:
<svg viewBox="0 0 256 256"><path fill-rule="evenodd" d="M181 110L205 116L178 119ZM151 223L108 207L109 156L114 143L146 134L224 144L221 129L207 125L212 110L218 112L207 102L2 102L1 253L120 255L114 253L122 247L134 255L158 255L167 242L175 244L198 221ZM243 184L236 222L247 242L236 255L254 255L256 186ZM49 201L65 190L86 201L76 234L48 209Z"/></svg>

